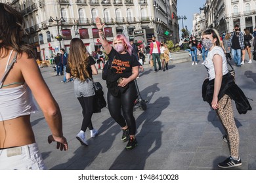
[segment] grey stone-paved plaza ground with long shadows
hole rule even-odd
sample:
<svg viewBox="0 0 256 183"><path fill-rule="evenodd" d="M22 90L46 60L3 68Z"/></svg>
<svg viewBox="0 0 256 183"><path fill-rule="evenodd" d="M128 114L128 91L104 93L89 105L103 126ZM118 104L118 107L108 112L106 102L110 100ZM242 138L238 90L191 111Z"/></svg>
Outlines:
<svg viewBox="0 0 256 183"><path fill-rule="evenodd" d="M39 150L49 169L104 170L212 170L217 163L229 156L228 145L223 142L223 128L214 110L202 99L202 82L206 70L201 64L191 62L170 64L169 70L154 73L148 64L137 78L142 98L148 99L147 110L134 108L139 146L125 150L127 142L121 142L121 128L112 120L108 108L93 114L93 126L99 135L91 139L89 146L81 146L75 139L80 131L82 113L74 97L73 82L60 82L62 76L54 76L53 68L41 68L54 98L60 106L64 136L68 139L68 152L56 150L48 144L49 127L43 113L32 114L32 126ZM232 62L233 63L233 62ZM253 110L234 117L240 132L240 157L242 166L233 169L256 169L256 61L247 61L242 67L234 67L236 83L250 101ZM95 76L104 88L106 82L101 73ZM106 98L106 97L105 97Z"/></svg>

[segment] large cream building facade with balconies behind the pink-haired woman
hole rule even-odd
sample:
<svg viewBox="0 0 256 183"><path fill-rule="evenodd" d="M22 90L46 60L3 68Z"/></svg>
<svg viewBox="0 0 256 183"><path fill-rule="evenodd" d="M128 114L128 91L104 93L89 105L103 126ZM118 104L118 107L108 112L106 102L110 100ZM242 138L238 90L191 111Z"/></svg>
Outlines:
<svg viewBox="0 0 256 183"><path fill-rule="evenodd" d="M101 48L95 18L104 22L108 42L123 33L135 42L179 39L177 0L2 0L24 16L26 42L32 44L37 58L45 59L79 37L91 53Z"/></svg>

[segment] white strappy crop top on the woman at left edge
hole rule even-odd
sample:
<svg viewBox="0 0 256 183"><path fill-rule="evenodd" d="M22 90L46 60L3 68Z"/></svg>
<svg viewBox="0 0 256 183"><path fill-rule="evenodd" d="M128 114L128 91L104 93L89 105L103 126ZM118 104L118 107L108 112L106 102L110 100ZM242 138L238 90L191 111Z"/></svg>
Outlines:
<svg viewBox="0 0 256 183"><path fill-rule="evenodd" d="M11 56L9 56L10 58ZM7 61L8 64L9 61ZM0 89L0 121L29 115L35 111L37 111L37 107L33 101L32 92L26 83L13 88Z"/></svg>

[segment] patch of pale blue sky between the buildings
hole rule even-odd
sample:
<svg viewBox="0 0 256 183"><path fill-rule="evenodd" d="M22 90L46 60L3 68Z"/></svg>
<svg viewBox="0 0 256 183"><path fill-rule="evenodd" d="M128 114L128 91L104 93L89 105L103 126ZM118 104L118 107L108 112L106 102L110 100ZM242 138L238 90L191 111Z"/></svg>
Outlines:
<svg viewBox="0 0 256 183"><path fill-rule="evenodd" d="M199 13L200 9L203 8L206 0L178 0L177 1L177 15L186 16L186 20L183 19L183 25L188 27L188 31L191 33L193 14ZM182 29L182 20L179 20L180 35Z"/></svg>

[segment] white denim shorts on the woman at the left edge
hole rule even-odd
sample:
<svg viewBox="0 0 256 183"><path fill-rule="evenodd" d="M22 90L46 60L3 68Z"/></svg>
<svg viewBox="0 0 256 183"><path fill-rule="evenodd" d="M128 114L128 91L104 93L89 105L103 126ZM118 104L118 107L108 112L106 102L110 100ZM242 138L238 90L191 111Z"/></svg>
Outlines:
<svg viewBox="0 0 256 183"><path fill-rule="evenodd" d="M0 170L46 170L37 143L0 150Z"/></svg>

